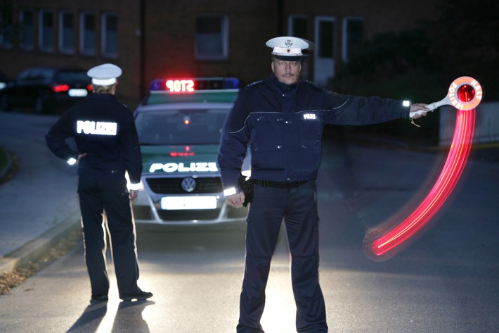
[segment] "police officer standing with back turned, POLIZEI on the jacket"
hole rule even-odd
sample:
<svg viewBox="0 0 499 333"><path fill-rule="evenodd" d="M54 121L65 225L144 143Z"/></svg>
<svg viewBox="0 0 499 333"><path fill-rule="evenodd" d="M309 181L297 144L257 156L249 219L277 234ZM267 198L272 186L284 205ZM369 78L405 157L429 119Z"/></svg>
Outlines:
<svg viewBox="0 0 499 333"><path fill-rule="evenodd" d="M122 70L105 63L91 68L93 94L69 108L46 134L48 148L67 163L78 165L78 195L82 213L86 268L92 300L107 301L106 237L124 301L148 299L153 294L137 285L135 225L130 200L140 189L142 157L134 117L114 94ZM66 143L72 137L74 151ZM128 173L131 184L127 188ZM107 223L105 223L107 221Z"/></svg>

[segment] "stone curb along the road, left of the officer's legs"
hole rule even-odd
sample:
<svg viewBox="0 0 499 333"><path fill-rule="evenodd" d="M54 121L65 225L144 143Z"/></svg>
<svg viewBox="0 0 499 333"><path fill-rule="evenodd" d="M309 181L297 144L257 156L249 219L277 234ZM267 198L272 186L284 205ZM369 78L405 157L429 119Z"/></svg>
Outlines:
<svg viewBox="0 0 499 333"><path fill-rule="evenodd" d="M0 275L13 272L15 268L20 268L30 261L37 260L45 251L55 246L60 239L81 229L79 211L68 216L66 220L74 222L61 222L51 230L41 234L37 239L0 258Z"/></svg>

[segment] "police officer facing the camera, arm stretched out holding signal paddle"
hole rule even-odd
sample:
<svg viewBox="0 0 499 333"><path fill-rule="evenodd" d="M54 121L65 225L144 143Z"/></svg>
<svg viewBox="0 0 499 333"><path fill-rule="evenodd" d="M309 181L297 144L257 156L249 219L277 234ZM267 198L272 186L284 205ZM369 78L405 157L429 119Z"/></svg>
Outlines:
<svg viewBox="0 0 499 333"><path fill-rule="evenodd" d="M226 118L217 158L226 201L240 208L245 201L238 184L242 160L247 149L252 156L254 189L237 332L264 332L265 288L283 220L292 256L297 332L328 332L318 276L315 182L323 127L386 122L428 109L425 104L326 92L299 80L302 50L311 49L311 42L276 37L266 45L272 48L273 74L240 93Z"/></svg>

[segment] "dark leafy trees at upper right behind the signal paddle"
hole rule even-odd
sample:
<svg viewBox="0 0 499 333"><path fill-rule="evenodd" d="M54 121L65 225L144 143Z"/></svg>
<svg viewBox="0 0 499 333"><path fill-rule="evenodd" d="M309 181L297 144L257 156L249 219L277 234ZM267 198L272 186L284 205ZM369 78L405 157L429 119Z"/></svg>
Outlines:
<svg viewBox="0 0 499 333"><path fill-rule="evenodd" d="M499 73L499 1L443 1L436 10L434 20L422 21L414 30L377 34L366 41L328 88L432 103L446 96L453 80L471 76L480 82L484 100L499 100L494 89ZM438 142L437 113L417 122L420 129L395 121L361 131Z"/></svg>

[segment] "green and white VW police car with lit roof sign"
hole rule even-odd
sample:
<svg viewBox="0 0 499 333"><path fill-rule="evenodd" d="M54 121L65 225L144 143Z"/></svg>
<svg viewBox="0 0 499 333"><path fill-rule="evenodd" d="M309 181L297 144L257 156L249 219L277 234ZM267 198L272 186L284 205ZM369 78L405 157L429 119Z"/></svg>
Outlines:
<svg viewBox="0 0 499 333"><path fill-rule="evenodd" d="M228 206L216 167L239 86L233 77L150 83L134 111L143 158L143 191L132 205L137 224L245 225L247 208Z"/></svg>

